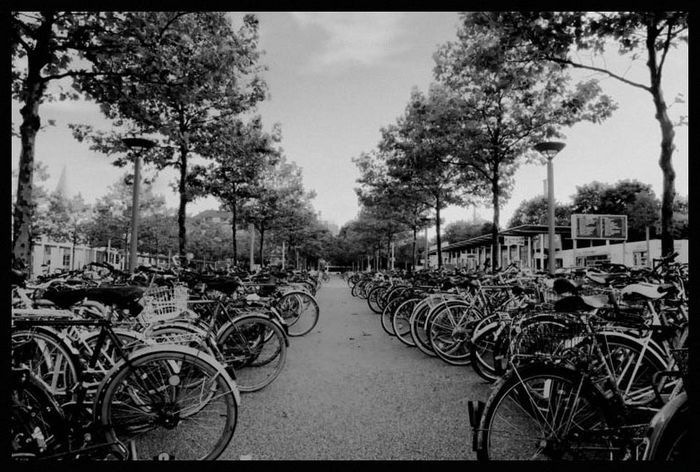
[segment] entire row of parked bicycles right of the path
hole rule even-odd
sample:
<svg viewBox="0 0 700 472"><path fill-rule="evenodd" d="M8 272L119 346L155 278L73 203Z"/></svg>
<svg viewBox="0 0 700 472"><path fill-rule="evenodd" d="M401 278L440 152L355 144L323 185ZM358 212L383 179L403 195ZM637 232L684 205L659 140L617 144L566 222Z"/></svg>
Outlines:
<svg viewBox="0 0 700 472"><path fill-rule="evenodd" d="M481 460L672 460L690 454L688 268L550 277L355 273L381 326L493 386L470 401Z"/></svg>

